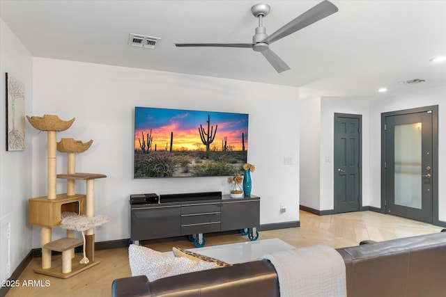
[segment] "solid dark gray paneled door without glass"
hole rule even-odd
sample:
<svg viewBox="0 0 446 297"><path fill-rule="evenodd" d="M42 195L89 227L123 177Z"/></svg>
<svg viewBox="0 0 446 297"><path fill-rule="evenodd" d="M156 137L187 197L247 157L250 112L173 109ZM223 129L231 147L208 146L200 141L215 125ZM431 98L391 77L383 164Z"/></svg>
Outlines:
<svg viewBox="0 0 446 297"><path fill-rule="evenodd" d="M361 115L334 114L334 213L359 211Z"/></svg>

